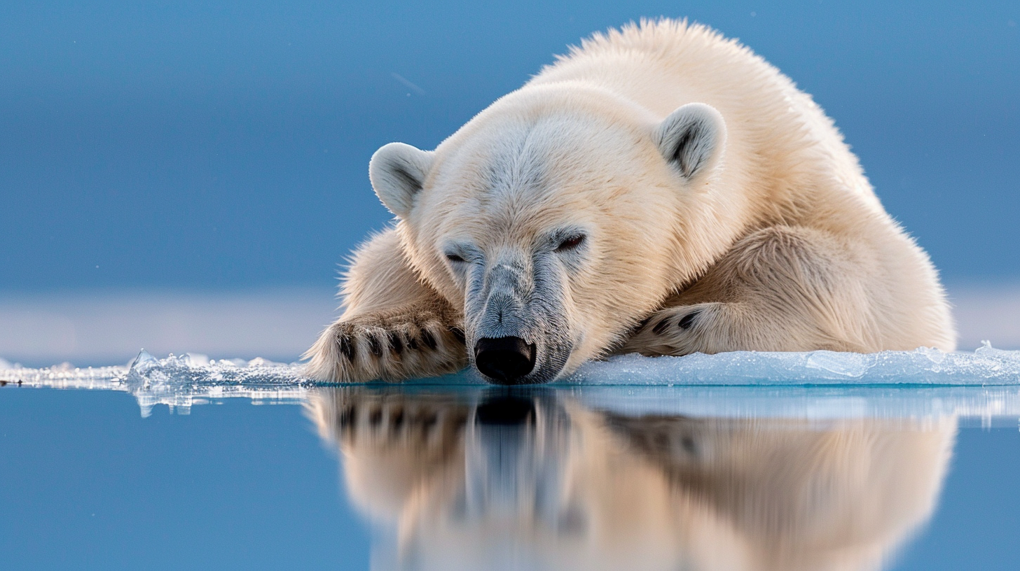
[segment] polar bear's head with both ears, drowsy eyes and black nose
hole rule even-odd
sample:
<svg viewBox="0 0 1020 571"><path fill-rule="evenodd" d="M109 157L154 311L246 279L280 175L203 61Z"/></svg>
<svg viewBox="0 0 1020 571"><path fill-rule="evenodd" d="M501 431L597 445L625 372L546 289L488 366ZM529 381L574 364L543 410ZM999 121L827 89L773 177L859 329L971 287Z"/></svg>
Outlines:
<svg viewBox="0 0 1020 571"><path fill-rule="evenodd" d="M386 145L369 174L410 264L463 308L476 368L543 382L613 347L731 242L713 193L725 134L702 103L662 118L599 89L532 86L435 151Z"/></svg>

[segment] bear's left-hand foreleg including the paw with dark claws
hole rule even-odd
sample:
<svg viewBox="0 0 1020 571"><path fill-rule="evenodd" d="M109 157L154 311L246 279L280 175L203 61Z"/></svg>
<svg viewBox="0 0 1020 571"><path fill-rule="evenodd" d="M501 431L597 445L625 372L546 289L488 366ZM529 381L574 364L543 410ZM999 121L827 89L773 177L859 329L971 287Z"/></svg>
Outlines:
<svg viewBox="0 0 1020 571"><path fill-rule="evenodd" d="M344 314L305 353L306 373L338 382L436 376L467 365L463 317L408 266L396 230L355 254Z"/></svg>

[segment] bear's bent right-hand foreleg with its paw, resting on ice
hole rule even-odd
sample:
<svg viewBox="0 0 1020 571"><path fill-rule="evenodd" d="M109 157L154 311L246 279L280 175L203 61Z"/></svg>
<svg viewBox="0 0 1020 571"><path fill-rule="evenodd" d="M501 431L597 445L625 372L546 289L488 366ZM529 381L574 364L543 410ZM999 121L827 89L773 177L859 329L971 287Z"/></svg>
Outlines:
<svg viewBox="0 0 1020 571"><path fill-rule="evenodd" d="M880 351L877 304L865 281L872 267L827 232L755 231L649 316L620 352Z"/></svg>

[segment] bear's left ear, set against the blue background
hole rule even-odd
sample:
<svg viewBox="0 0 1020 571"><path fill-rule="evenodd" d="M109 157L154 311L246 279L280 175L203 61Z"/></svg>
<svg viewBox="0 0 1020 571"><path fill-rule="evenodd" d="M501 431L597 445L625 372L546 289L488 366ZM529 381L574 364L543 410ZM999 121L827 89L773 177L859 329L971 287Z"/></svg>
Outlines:
<svg viewBox="0 0 1020 571"><path fill-rule="evenodd" d="M368 162L368 178L382 205L401 218L414 206L432 167L432 153L403 143L384 145Z"/></svg>

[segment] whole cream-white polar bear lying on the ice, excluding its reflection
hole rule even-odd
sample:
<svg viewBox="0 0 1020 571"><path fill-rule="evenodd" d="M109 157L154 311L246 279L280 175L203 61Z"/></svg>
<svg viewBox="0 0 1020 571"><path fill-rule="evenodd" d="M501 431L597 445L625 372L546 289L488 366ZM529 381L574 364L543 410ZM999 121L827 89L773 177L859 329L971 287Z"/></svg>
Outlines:
<svg viewBox="0 0 1020 571"><path fill-rule="evenodd" d="M704 25L596 34L435 151L384 146L369 177L397 222L354 255L315 378L955 349L935 269L832 121Z"/></svg>

